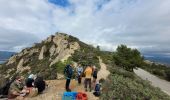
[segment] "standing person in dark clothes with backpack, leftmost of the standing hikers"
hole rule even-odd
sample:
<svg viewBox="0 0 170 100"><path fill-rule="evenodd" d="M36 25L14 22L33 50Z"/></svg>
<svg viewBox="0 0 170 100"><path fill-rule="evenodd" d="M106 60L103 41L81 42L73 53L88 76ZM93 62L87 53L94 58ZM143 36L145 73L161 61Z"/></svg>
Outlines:
<svg viewBox="0 0 170 100"><path fill-rule="evenodd" d="M71 77L73 75L73 64L66 65L66 67L64 69L64 74L66 76L65 89L66 89L66 91L70 92L71 89L69 88L69 86L70 86Z"/></svg>

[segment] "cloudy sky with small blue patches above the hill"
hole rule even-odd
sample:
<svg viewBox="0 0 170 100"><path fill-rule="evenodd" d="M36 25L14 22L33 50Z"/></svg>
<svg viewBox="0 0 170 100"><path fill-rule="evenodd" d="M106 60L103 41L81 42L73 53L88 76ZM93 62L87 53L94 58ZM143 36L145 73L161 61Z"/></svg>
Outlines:
<svg viewBox="0 0 170 100"><path fill-rule="evenodd" d="M0 50L19 52L63 32L103 50L125 44L170 57L169 5L170 0L0 0Z"/></svg>

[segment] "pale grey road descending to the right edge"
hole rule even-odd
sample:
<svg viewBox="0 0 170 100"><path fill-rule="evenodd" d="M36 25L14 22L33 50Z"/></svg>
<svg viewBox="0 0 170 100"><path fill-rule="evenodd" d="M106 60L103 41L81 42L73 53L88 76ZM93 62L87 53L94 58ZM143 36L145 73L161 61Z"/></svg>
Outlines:
<svg viewBox="0 0 170 100"><path fill-rule="evenodd" d="M134 70L134 72L142 79L150 81L153 86L159 87L162 91L170 95L170 82L160 79L140 68Z"/></svg>

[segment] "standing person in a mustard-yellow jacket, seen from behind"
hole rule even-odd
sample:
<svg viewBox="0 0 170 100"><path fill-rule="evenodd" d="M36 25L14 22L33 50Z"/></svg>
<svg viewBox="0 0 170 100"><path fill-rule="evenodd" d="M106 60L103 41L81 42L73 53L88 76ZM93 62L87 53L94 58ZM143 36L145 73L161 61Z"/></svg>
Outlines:
<svg viewBox="0 0 170 100"><path fill-rule="evenodd" d="M92 77L92 68L91 66L87 66L85 71L84 71L84 74L85 74L85 91L87 92L87 85L89 85L89 89L90 89L90 92L91 92L91 77Z"/></svg>

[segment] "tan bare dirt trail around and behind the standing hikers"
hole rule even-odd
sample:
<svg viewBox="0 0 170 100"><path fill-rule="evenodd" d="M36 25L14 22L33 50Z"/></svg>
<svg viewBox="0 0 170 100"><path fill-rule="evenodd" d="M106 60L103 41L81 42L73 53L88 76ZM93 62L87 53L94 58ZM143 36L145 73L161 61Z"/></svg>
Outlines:
<svg viewBox="0 0 170 100"><path fill-rule="evenodd" d="M106 65L102 62L102 59L99 57L99 62L101 69L98 72L98 79L104 78L106 79L110 72L107 70ZM78 85L76 80L71 80L70 88L72 91L76 92L85 92L84 90L84 78L82 79L82 84ZM44 91L43 94L38 95L34 98L26 98L26 100L61 100L63 92L65 92L65 80L50 80L47 81L49 85L48 88ZM88 96L88 100L99 100L99 98L95 97L92 92L86 92Z"/></svg>

